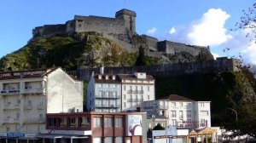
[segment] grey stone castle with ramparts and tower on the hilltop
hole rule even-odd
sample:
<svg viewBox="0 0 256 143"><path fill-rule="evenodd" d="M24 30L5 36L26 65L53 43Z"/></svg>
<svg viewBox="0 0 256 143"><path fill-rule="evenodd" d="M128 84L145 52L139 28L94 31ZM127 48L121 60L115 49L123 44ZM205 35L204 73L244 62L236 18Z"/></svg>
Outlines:
<svg viewBox="0 0 256 143"><path fill-rule="evenodd" d="M115 18L101 16L80 16L75 15L73 20L65 24L44 25L35 27L32 30L32 41L38 37L52 37L55 35L73 36L75 33L96 31L102 37L113 40L122 49L128 52L138 51L136 33L136 12L129 9L121 9L115 14ZM168 56L186 53L192 56L205 56L207 60L213 60L209 47L187 45L171 41L158 41L155 37L143 35L141 37L145 44L145 53L148 56L169 60Z"/></svg>

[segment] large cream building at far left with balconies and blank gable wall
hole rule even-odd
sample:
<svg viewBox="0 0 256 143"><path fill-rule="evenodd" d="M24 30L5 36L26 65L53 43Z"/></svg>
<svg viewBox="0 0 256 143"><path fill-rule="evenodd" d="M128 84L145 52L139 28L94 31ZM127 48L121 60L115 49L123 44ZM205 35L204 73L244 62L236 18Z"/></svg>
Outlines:
<svg viewBox="0 0 256 143"><path fill-rule="evenodd" d="M35 137L45 115L83 112L83 82L61 68L0 72L0 136Z"/></svg>

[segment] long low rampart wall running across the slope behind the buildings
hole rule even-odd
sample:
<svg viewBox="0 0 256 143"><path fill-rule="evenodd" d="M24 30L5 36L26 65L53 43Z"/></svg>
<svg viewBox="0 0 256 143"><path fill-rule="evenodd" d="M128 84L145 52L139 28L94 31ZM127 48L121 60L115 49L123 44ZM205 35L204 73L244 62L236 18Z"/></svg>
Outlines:
<svg viewBox="0 0 256 143"><path fill-rule="evenodd" d="M193 73L218 73L225 71L238 72L241 60L218 58L217 60L206 60L201 62L162 64L158 66L121 66L104 67L107 74L133 74L134 72L146 72L152 76L177 76ZM80 80L89 80L91 72L99 73L98 68L80 67L76 71L67 72L70 75L78 77Z"/></svg>

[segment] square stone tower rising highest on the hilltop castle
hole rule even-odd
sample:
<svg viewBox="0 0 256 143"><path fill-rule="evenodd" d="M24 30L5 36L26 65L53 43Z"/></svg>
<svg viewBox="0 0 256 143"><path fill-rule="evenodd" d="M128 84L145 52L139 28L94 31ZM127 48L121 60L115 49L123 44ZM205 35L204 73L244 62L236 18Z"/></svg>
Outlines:
<svg viewBox="0 0 256 143"><path fill-rule="evenodd" d="M121 9L115 13L115 18L125 20L127 30L136 32L136 12L129 9Z"/></svg>

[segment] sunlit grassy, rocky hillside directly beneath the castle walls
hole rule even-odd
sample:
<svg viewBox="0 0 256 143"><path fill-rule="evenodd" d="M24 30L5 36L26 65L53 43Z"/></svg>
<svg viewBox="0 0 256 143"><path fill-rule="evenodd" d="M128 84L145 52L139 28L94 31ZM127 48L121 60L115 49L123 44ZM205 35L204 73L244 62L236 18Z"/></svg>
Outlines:
<svg viewBox="0 0 256 143"><path fill-rule="evenodd" d="M138 54L128 53L113 41L97 35L83 37L39 38L0 60L2 70L25 70L61 66L133 66ZM147 65L158 60L146 56Z"/></svg>

